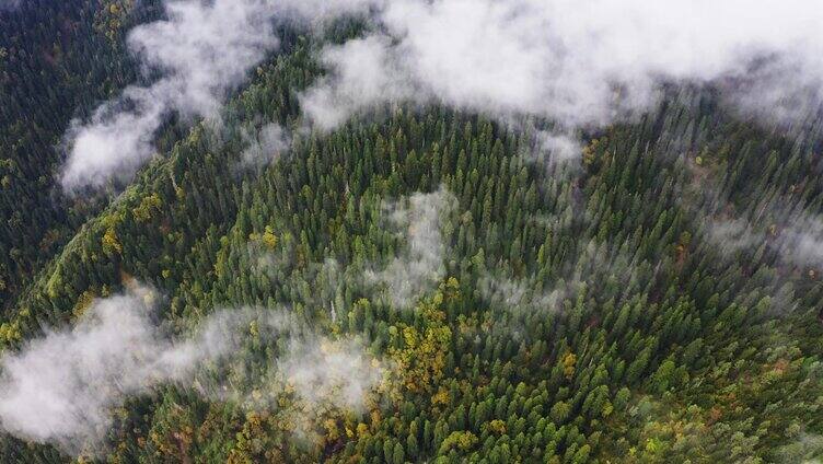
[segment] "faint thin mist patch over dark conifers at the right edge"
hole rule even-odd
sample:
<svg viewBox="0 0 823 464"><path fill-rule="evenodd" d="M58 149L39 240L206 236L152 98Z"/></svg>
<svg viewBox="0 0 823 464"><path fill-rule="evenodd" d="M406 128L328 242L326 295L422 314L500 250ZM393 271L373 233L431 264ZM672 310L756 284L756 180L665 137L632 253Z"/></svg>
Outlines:
<svg viewBox="0 0 823 464"><path fill-rule="evenodd" d="M696 221L698 246L718 253L721 266L740 265L747 274L740 283L766 292L769 315L793 311L796 272L818 278L823 268L823 216L808 208L803 187L791 195L755 188L739 204L710 169L696 169L691 161L686 165L691 183L674 198Z"/></svg>

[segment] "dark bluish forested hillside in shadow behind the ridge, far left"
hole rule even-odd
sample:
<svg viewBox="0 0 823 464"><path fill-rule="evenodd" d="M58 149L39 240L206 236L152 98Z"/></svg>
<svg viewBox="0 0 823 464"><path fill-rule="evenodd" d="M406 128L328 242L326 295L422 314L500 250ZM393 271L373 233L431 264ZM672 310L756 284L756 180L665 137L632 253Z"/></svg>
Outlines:
<svg viewBox="0 0 823 464"><path fill-rule="evenodd" d="M157 15L141 2L24 2L0 9L2 235L0 302L5 311L40 266L100 209L55 188L63 134L74 117L136 79L123 34Z"/></svg>

